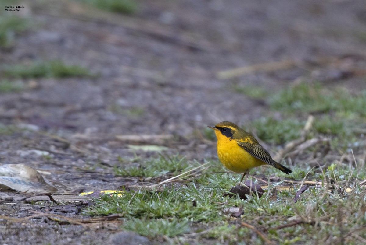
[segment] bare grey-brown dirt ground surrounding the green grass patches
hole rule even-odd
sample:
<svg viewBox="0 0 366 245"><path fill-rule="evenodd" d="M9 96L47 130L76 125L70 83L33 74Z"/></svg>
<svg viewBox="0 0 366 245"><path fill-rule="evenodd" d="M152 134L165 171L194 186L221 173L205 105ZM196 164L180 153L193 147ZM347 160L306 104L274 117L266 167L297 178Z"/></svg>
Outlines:
<svg viewBox="0 0 366 245"><path fill-rule="evenodd" d="M27 89L0 94L0 123L35 129L2 134L1 163L30 165L61 193L117 189L139 181L113 174L115 165L134 164L131 143L164 145L167 154L199 161L213 157L214 143L197 131L222 120L245 124L269 112L265 99L235 92L235 85L277 91L301 79L352 91L365 88L365 79L342 73L365 65L364 0L143 0L133 15L104 12L75 1L35 0L19 5L25 6L19 15L29 18L32 28L19 35L11 48L0 49L1 65L62 60L99 74L26 79ZM272 62L284 63L234 78L217 77L223 70ZM155 136L131 142L126 135ZM53 156L29 152L34 149ZM156 155L136 153L142 158ZM32 204L3 205L1 213L22 218L30 215L29 210L40 209L83 218L74 207L65 211ZM130 234L110 237L119 223L101 224L59 225L45 217L36 225L7 222L0 225L0 241L134 241Z"/></svg>

